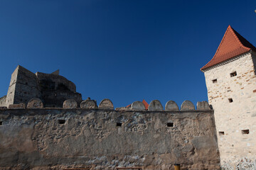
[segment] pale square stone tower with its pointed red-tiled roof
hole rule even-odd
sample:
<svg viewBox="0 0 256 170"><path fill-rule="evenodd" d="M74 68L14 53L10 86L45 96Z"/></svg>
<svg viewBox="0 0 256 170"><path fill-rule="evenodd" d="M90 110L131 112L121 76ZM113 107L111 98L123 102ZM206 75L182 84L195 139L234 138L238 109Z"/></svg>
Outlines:
<svg viewBox="0 0 256 170"><path fill-rule="evenodd" d="M256 169L256 47L228 26L218 50L201 71L213 107L220 164Z"/></svg>

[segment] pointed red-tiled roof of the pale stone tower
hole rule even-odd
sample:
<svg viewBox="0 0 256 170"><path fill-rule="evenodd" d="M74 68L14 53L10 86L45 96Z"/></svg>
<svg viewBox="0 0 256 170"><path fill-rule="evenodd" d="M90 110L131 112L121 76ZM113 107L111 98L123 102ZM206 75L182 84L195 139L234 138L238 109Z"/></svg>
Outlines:
<svg viewBox="0 0 256 170"><path fill-rule="evenodd" d="M256 47L249 41L245 40L245 38L236 32L231 26L228 26L213 59L202 67L201 71L235 56L242 55L245 52L249 52L250 50L256 52Z"/></svg>

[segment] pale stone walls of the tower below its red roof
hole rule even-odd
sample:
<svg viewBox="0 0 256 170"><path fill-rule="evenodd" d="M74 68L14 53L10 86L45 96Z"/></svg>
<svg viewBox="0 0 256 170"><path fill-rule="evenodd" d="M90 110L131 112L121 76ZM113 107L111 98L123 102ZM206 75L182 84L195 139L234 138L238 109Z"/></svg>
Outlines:
<svg viewBox="0 0 256 170"><path fill-rule="evenodd" d="M233 72L237 75L230 77ZM256 77L251 54L210 69L205 77L222 167L256 169Z"/></svg>

